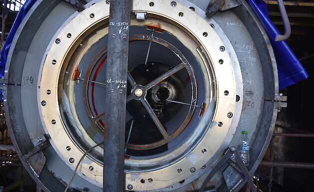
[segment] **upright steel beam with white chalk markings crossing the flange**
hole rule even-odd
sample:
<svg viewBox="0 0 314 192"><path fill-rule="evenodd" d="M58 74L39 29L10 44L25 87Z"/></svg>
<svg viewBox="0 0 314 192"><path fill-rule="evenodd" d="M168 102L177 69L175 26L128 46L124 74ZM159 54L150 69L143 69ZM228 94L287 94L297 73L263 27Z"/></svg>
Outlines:
<svg viewBox="0 0 314 192"><path fill-rule="evenodd" d="M104 117L104 192L123 192L125 189L125 115L131 2L110 2Z"/></svg>

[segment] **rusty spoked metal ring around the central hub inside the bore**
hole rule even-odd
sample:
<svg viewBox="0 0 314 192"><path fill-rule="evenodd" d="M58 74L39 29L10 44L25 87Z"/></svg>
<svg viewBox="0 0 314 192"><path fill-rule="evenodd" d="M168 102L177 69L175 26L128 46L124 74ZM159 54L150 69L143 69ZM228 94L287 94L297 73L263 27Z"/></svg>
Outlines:
<svg viewBox="0 0 314 192"><path fill-rule="evenodd" d="M186 60L186 58L183 56L183 54L176 47L174 47L170 43L166 42L165 40L160 39L158 37L154 37L154 36L148 36L148 35L142 35L141 34L141 35L132 35L130 37L130 42L139 41L139 40L152 41L152 42L158 43L158 44L168 48L170 51L175 53L175 55L182 62L181 64L177 65L176 67L172 68L171 70L169 70L168 72L163 74L162 76L158 77L155 81L149 83L146 86L141 86L141 88L139 88L140 85L136 84L136 82L134 81L131 74L128 73L128 81L132 86L132 93L133 94L131 94L130 96L127 97L127 102L131 101L132 99L141 100L141 102L145 106L146 110L151 115L151 117L152 117L154 123L156 124L157 128L159 129L160 133L162 134L163 139L158 141L158 142L155 142L155 143L149 143L149 144L143 144L143 145L135 145L135 144L126 143L126 148L132 149L132 150L149 150L149 149L154 149L154 148L160 147L160 146L172 141L174 138L176 138L184 130L184 128L190 122L190 119L194 113L195 106L196 106L196 100L197 100L197 87L196 87L196 85L197 84L196 84L195 75L193 73L193 70L192 70L189 62ZM85 75L85 80L90 80L92 70L95 68L97 61L99 61L100 58L104 57L106 52L107 52L107 49L105 48L101 51L101 53L97 54L97 56L93 60L94 62L92 63L92 65L87 70L87 73ZM155 112L152 109L152 106L150 106L150 104L148 103L148 101L145 98L145 95L143 95L143 93L146 93L148 90L150 90L152 88L154 89L157 84L159 84L160 82L167 79L169 76L175 74L176 72L180 71L183 68L185 68L187 70L187 73L189 74L189 78L191 80L191 88L192 88L191 94L192 94L192 96L191 96L191 101L189 103L190 106L189 106L189 110L187 112L187 115L186 115L184 121L181 123L181 125L172 134L169 135L167 133L167 131L165 130L165 128L163 127L163 125L161 124L161 122L159 121L157 115L155 114ZM95 79L93 79L93 81L95 81ZM85 93L85 97L84 97L85 107L89 113L89 116L91 116L91 122L94 124L94 126L99 127L100 129L104 130L105 124L100 119L104 117L105 112L102 112L101 114L97 115L98 113L97 113L97 111L95 111L97 116L94 116L93 113L91 112L91 106L89 104L90 102L87 101L87 99L88 99L88 84L89 84L89 81L84 81L84 91L83 92ZM94 88L93 85L95 83L92 82L91 84L92 84L92 89L93 89ZM139 92L139 94L137 94L138 92ZM98 122L100 122L100 123L98 123Z"/></svg>

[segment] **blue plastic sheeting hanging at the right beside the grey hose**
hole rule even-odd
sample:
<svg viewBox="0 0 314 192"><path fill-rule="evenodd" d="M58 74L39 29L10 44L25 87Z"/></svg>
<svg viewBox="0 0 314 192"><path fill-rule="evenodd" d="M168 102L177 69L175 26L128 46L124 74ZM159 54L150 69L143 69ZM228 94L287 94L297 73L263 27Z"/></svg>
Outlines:
<svg viewBox="0 0 314 192"><path fill-rule="evenodd" d="M275 53L279 89L284 89L290 85L298 83L309 77L303 65L292 52L286 41L275 41L277 34L280 34L272 21L268 18L267 4L263 0L246 0L261 19L262 24L268 34Z"/></svg>

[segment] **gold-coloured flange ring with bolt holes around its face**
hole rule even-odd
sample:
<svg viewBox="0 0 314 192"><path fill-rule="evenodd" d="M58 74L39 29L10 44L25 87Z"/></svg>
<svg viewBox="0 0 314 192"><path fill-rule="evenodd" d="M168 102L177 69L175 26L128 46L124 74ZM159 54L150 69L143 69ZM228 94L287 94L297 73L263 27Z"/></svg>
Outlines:
<svg viewBox="0 0 314 192"><path fill-rule="evenodd" d="M200 120L200 124L204 124L203 126L208 129L193 150L185 157L159 170L126 173L126 190L128 185L132 185L135 191L155 190L189 177L194 171L201 169L214 155L217 153L220 155L221 152L218 149L222 144L228 146L228 142L224 143L225 138L229 130L235 130L237 126L238 118L234 116L241 114L241 108L236 107L236 95L242 98L243 93L236 91L239 85L236 84L235 77L235 74L241 72L236 71L232 65L233 62L228 54L232 50L225 51L227 46L212 27L188 7L180 3L171 6L171 0L158 0L154 3L147 0L134 0L133 11L147 12L150 17L168 20L184 29L199 43L197 51L204 63L207 63L203 68L214 75L215 95L211 100L214 106L207 105ZM38 105L45 131L49 133L51 143L60 158L73 170L84 151L73 141L62 121L58 102L58 96L62 95L58 93L59 75L62 66L69 62L69 56L73 54L73 47L80 43L87 31L108 22L108 17L109 5L105 0L73 15L52 39L43 62L41 77L39 76L41 80L38 81L40 87ZM210 124L208 120L211 121ZM128 161L132 165L141 163L141 160L136 159ZM89 169L91 166L93 169ZM190 171L191 168L194 168L194 171ZM101 163L86 157L78 171L82 178L97 186L102 186L103 166ZM148 182L142 183L142 179Z"/></svg>

